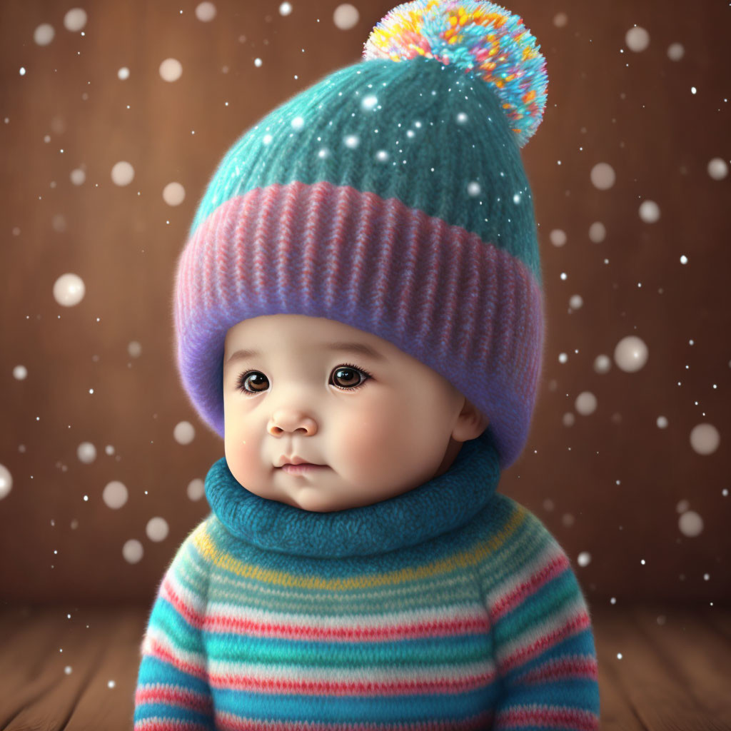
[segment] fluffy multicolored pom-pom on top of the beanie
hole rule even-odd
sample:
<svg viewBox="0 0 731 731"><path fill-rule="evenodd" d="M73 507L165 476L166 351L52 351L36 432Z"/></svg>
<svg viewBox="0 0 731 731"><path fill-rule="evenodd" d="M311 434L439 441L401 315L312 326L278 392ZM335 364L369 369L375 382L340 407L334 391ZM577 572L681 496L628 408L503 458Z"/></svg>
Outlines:
<svg viewBox="0 0 731 731"><path fill-rule="evenodd" d="M413 0L387 13L363 45L363 58L435 58L491 84L523 147L543 118L545 58L522 18L486 0Z"/></svg>

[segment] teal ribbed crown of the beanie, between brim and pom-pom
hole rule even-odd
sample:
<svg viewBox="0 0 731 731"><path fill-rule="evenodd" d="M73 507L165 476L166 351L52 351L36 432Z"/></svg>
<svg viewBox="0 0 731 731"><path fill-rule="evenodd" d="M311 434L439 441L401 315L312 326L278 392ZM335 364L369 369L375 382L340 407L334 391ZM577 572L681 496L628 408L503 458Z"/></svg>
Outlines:
<svg viewBox="0 0 731 731"><path fill-rule="evenodd" d="M398 198L492 241L542 286L531 188L500 104L483 81L430 58L336 69L231 145L189 237L219 205L250 190L327 181Z"/></svg>

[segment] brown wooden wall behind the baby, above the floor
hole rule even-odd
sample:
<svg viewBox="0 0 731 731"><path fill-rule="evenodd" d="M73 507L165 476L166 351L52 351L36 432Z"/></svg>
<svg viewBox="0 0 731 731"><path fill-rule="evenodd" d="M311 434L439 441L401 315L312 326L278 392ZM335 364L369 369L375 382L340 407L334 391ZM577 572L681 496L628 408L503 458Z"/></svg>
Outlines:
<svg viewBox="0 0 731 731"><path fill-rule="evenodd" d="M101 0L86 6L83 35L64 28L71 5L0 4L0 464L13 480L0 500L7 602L151 602L178 546L208 513L205 498L190 500L186 487L223 455L189 407L173 357L173 272L197 202L244 129L357 61L395 5L357 3L360 20L343 30L333 22L337 1L298 0L285 16L277 1L217 0L208 23L197 20L196 4ZM714 180L707 166L731 156L730 10L715 0L695 10L680 0L509 7L548 64L548 106L523 148L547 341L529 441L499 489L561 542L591 603L728 601L731 178ZM40 23L56 29L43 47L34 42ZM626 47L635 23L650 34L641 53ZM675 42L685 50L680 61L667 56ZM183 64L174 83L159 75L168 57ZM121 67L128 80L118 79ZM111 180L120 160L135 167L129 186ZM611 189L591 184L598 162L616 171ZM76 186L69 175L79 167L86 181ZM173 181L186 190L177 207L162 198ZM638 215L645 199L660 207L656 223ZM594 221L606 227L601 243L588 236ZM552 230L566 232L564 246L551 243ZM86 284L77 306L53 298L66 272ZM569 311L575 294L583 307ZM648 345L645 367L625 373L613 364L597 374L595 357L612 357L628 335ZM140 357L130 357L131 341ZM26 379L13 375L19 365ZM564 425L584 390L596 395L596 411ZM667 428L656 425L661 415ZM184 420L196 428L187 445L173 438ZM699 423L720 433L711 455L689 442ZM77 458L86 441L97 450L91 464ZM129 490L119 510L102 500L111 480ZM702 517L696 537L678 527L681 501ZM156 516L170 526L162 542L145 533ZM135 564L122 554L129 539L144 549ZM577 564L583 551L586 566Z"/></svg>

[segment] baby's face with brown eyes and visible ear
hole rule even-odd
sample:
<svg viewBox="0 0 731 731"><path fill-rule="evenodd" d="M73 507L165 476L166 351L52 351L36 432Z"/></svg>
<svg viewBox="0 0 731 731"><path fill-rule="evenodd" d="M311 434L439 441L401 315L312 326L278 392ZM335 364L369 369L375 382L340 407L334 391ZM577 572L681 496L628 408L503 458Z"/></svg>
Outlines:
<svg viewBox="0 0 731 731"><path fill-rule="evenodd" d="M258 355L237 356L243 349ZM233 476L251 493L303 510L346 510L405 493L446 471L461 442L487 426L436 371L322 317L277 314L231 327L223 379ZM283 469L295 457L320 466Z"/></svg>

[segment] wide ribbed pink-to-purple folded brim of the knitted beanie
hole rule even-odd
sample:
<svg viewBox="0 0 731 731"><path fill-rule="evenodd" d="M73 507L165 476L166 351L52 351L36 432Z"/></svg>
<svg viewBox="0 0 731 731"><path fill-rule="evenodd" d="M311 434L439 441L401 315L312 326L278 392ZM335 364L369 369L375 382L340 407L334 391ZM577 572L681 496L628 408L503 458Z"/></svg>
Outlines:
<svg viewBox="0 0 731 731"><path fill-rule="evenodd" d="M173 299L183 388L221 437L227 330L303 314L373 333L444 376L490 420L501 469L526 442L539 284L504 249L397 198L327 181L233 197L186 243Z"/></svg>

